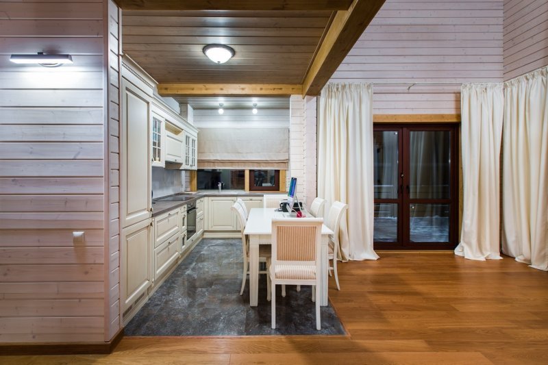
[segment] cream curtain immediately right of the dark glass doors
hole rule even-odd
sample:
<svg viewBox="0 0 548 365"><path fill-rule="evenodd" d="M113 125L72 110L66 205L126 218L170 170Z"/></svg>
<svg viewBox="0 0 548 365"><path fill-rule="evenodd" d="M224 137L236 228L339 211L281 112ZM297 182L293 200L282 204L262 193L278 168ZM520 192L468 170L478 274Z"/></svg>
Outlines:
<svg viewBox="0 0 548 365"><path fill-rule="evenodd" d="M460 103L464 207L455 253L472 260L501 259L502 84L464 84Z"/></svg>

